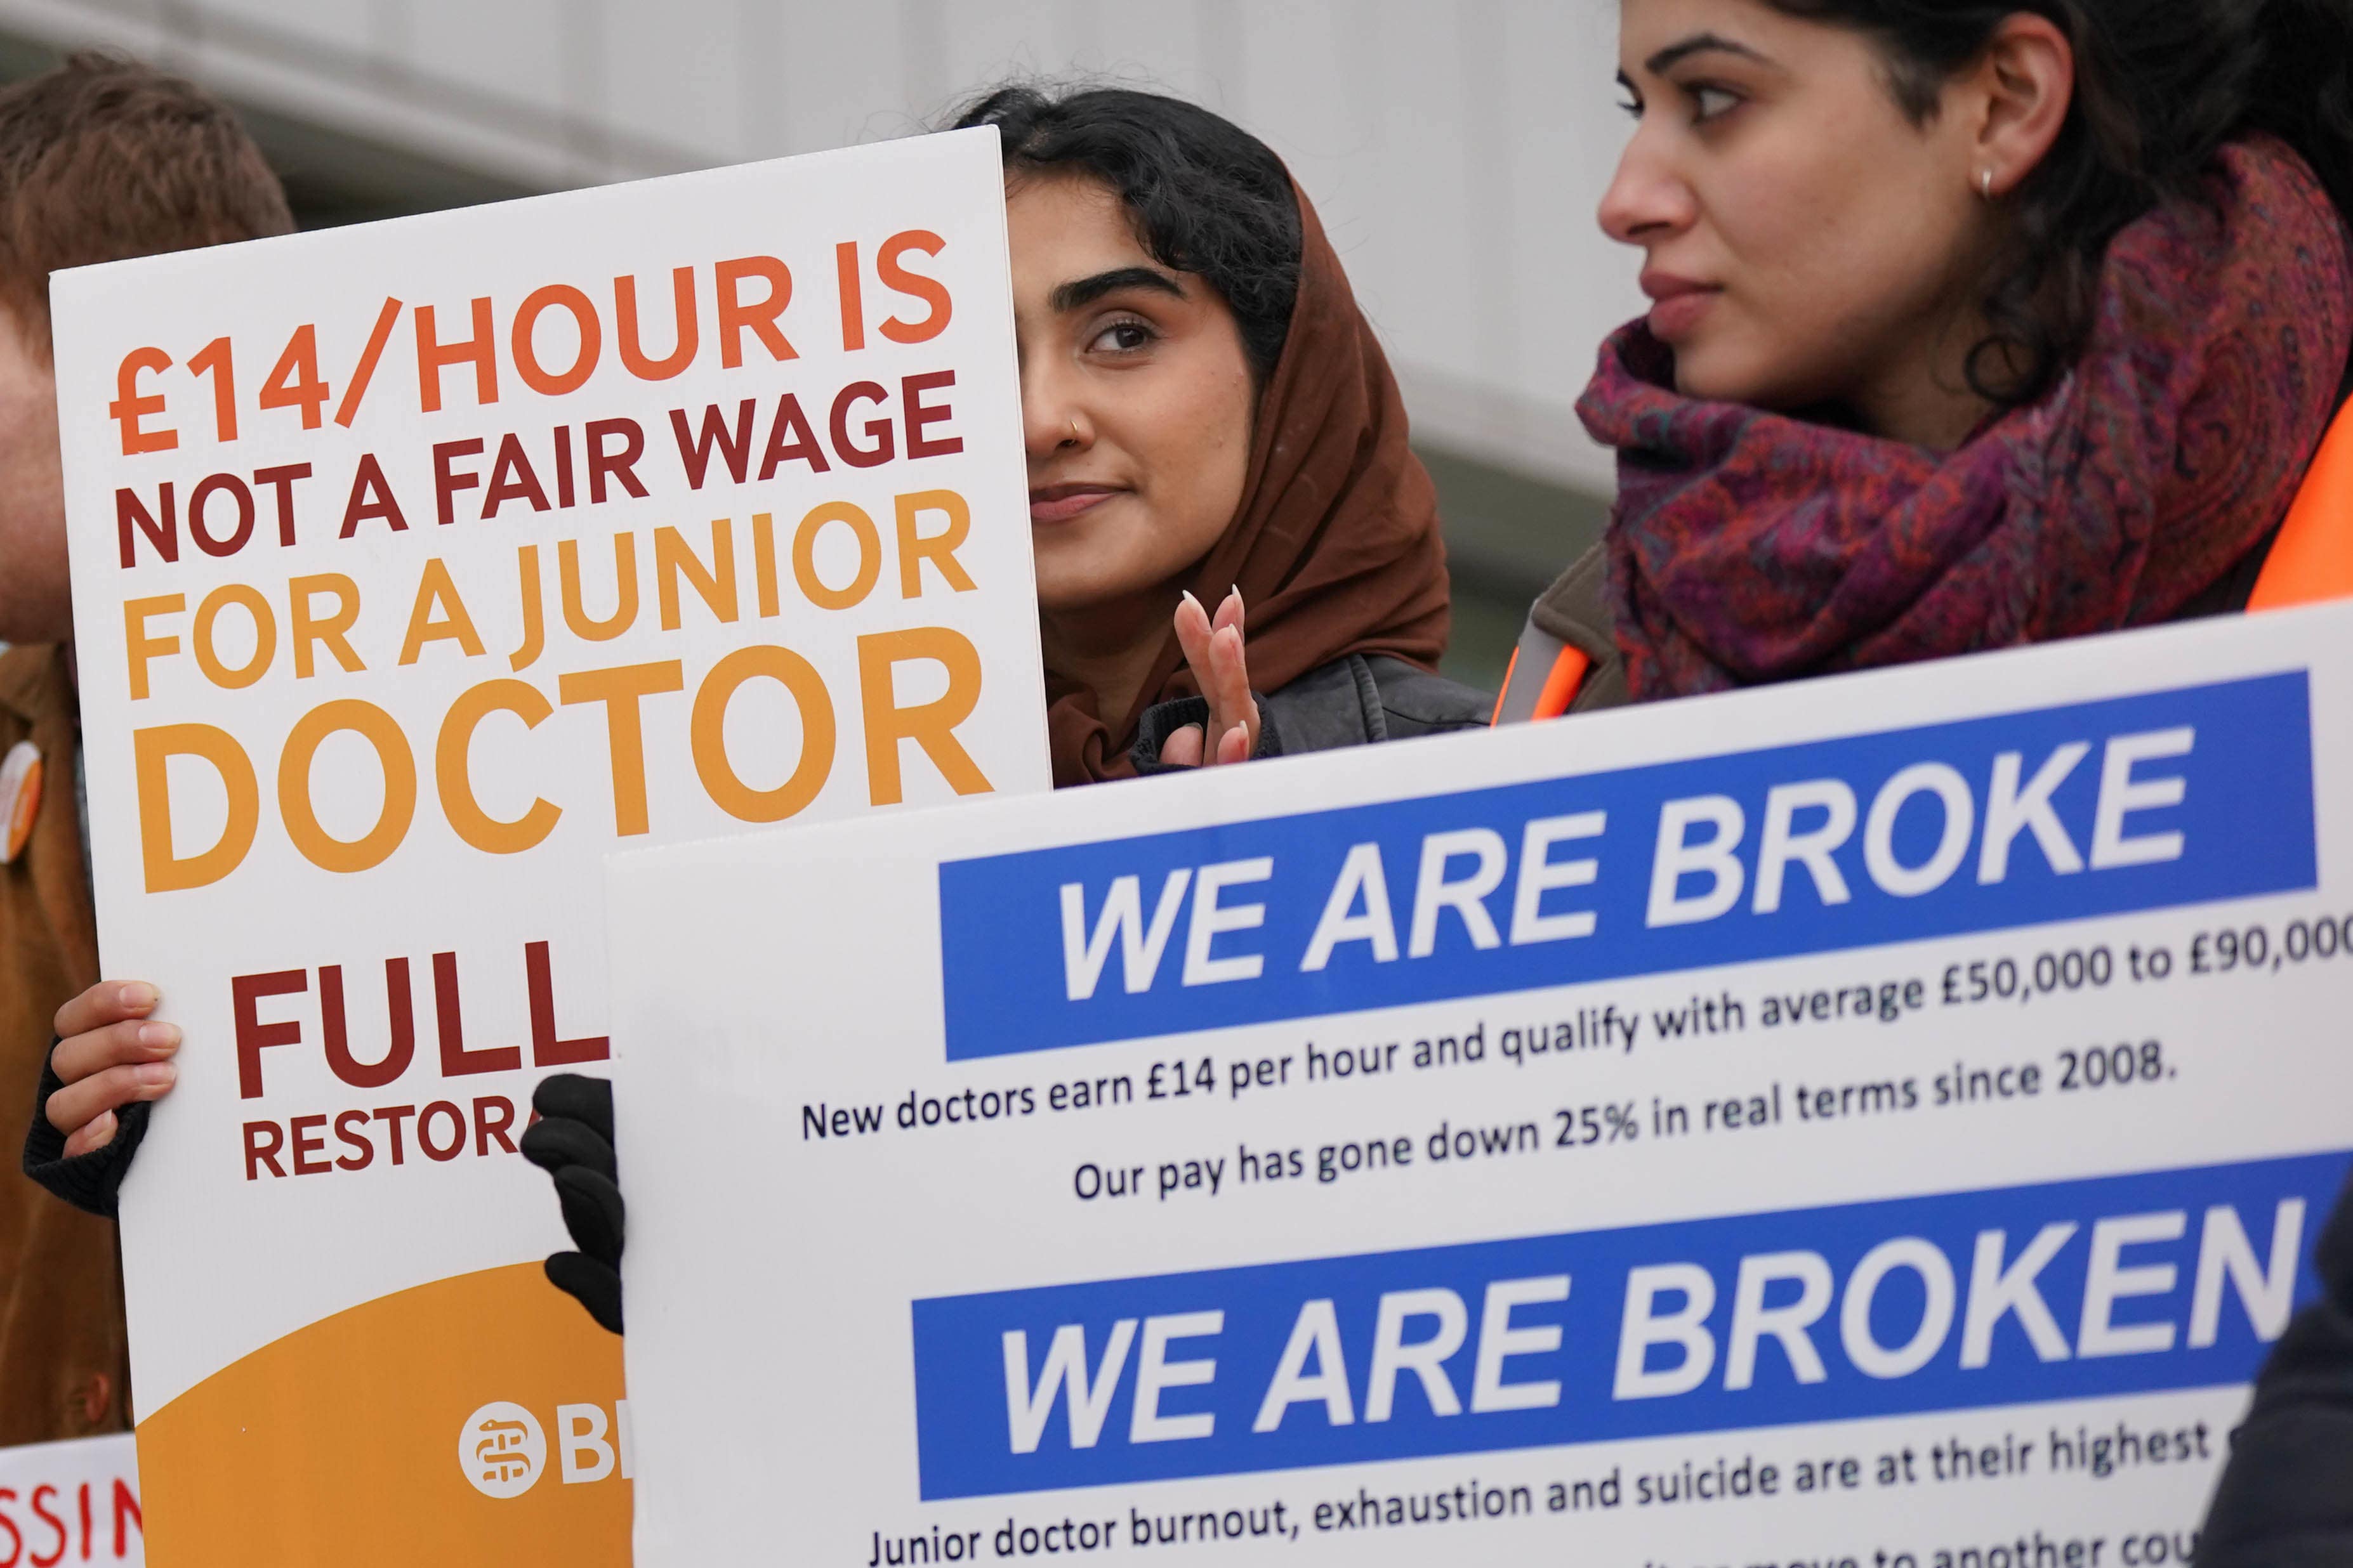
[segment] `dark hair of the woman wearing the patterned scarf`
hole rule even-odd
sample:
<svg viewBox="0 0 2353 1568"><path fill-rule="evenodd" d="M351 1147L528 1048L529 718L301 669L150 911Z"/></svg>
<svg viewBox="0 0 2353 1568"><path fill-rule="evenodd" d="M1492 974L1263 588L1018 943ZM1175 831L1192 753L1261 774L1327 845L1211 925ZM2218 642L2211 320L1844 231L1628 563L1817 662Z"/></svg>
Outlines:
<svg viewBox="0 0 2353 1568"><path fill-rule="evenodd" d="M2226 141L2280 136L2353 214L2348 0L1769 2L1875 38L1915 122L2007 16L2047 16L2073 42L2075 99L2049 155L2005 197L2012 233L1984 289L1993 334L1969 355L1969 388L1995 404L2033 402L2075 362L2108 240L2160 202L2198 200Z"/></svg>

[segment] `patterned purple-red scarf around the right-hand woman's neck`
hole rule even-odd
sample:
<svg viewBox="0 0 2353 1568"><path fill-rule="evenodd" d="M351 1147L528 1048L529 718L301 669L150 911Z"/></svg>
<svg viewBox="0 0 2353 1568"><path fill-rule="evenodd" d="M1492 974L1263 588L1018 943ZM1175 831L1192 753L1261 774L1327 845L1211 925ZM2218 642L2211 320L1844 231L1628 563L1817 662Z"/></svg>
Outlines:
<svg viewBox="0 0 2353 1568"><path fill-rule="evenodd" d="M2282 143L2125 228L2082 360L1960 451L1673 393L1642 322L1577 411L1619 451L1638 698L2165 621L2287 515L2353 346L2353 237Z"/></svg>

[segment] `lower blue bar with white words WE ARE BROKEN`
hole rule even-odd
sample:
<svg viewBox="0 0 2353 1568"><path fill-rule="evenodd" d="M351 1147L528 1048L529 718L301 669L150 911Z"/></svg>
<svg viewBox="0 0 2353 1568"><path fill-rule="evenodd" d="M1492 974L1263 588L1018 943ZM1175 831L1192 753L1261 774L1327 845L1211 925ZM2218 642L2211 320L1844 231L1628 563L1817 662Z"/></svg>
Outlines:
<svg viewBox="0 0 2353 1568"><path fill-rule="evenodd" d="M2235 1385L2346 1159L918 1300L922 1497Z"/></svg>

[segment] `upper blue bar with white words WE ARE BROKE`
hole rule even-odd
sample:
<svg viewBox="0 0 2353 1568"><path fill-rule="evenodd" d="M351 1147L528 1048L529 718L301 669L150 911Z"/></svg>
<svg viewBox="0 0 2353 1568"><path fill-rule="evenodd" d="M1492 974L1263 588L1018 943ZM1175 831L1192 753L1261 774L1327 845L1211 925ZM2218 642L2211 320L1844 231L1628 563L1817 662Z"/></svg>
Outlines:
<svg viewBox="0 0 2353 1568"><path fill-rule="evenodd" d="M1052 1051L2285 893L2315 886L2315 863L2299 670L951 860L946 1048Z"/></svg>

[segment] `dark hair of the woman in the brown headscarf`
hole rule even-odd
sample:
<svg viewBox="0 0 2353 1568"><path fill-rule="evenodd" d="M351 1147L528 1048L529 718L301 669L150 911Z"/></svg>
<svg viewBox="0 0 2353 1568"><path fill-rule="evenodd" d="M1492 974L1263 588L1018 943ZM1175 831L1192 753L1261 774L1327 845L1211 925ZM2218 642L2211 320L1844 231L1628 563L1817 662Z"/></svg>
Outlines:
<svg viewBox="0 0 2353 1568"><path fill-rule="evenodd" d="M998 87L955 115L993 125L1007 172L1092 174L1127 202L1144 247L1233 308L1264 383L1299 299L1299 200L1273 148L1198 103L1127 87Z"/></svg>

